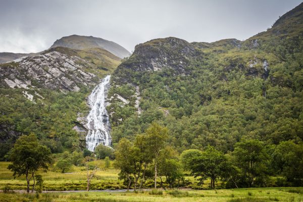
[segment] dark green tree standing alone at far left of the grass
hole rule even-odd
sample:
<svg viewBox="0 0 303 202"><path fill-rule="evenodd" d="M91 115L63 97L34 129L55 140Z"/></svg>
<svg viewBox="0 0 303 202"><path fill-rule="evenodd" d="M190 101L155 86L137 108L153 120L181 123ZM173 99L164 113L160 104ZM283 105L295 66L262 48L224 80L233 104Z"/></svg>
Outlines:
<svg viewBox="0 0 303 202"><path fill-rule="evenodd" d="M12 164L8 166L8 169L13 171L14 177L25 175L28 193L31 180L33 180L32 192L34 191L38 169L47 170L48 164L52 163L50 154L49 148L39 144L33 133L20 136L10 151L9 160ZM40 177L38 181L41 181Z"/></svg>

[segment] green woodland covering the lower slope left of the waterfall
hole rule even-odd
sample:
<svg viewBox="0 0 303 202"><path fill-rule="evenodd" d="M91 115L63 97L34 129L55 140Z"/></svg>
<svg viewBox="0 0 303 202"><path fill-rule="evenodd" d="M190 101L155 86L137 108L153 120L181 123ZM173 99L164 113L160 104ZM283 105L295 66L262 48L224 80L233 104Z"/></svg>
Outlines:
<svg viewBox="0 0 303 202"><path fill-rule="evenodd" d="M23 95L23 89L0 88L0 161L21 134L35 133L39 141L52 153L62 153L69 148L79 150L85 142L73 127L77 113L88 112L85 97L90 90L59 92L48 89L28 89L34 95L33 102ZM38 93L36 95L35 93Z"/></svg>

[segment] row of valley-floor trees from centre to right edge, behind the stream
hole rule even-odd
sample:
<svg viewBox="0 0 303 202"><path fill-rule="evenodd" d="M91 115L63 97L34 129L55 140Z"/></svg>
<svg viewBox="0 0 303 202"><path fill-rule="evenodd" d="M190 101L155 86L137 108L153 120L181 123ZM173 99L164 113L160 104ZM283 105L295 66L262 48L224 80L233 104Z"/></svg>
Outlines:
<svg viewBox="0 0 303 202"><path fill-rule="evenodd" d="M241 139L233 151L225 154L208 145L178 155L167 144L168 133L167 128L154 122L133 142L126 138L119 141L115 166L128 188L141 188L150 179L155 188L158 184L163 188L188 186L186 171L198 180L198 185L210 179L212 189L218 181L222 182L221 188L303 185L301 141L268 145L257 139Z"/></svg>

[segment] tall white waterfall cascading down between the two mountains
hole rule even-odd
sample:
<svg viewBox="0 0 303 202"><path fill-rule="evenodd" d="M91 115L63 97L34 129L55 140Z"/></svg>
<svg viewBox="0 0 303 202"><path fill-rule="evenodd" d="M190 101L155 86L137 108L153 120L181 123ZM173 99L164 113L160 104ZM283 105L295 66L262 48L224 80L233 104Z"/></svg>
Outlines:
<svg viewBox="0 0 303 202"><path fill-rule="evenodd" d="M111 145L110 121L106 110L105 99L107 88L110 83L111 75L106 76L102 83L98 84L88 96L88 104L91 110L87 116L86 148L94 151L95 147L102 143L106 146Z"/></svg>

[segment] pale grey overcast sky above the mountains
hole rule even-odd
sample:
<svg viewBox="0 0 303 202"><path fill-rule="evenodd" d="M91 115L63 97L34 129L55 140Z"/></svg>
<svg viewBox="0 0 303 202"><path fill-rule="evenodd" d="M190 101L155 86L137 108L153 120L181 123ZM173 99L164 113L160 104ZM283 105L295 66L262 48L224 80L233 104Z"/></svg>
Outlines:
<svg viewBox="0 0 303 202"><path fill-rule="evenodd" d="M114 41L133 51L154 38L244 40L302 0L0 0L0 52L40 52L72 34Z"/></svg>

